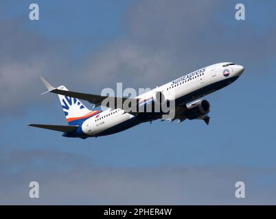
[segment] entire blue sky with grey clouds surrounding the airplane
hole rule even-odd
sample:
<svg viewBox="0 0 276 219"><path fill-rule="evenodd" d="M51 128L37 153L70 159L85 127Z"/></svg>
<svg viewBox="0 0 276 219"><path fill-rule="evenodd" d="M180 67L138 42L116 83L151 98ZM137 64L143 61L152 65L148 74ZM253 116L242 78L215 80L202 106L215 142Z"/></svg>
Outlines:
<svg viewBox="0 0 276 219"><path fill-rule="evenodd" d="M0 203L275 204L275 2L35 1L41 19L30 21L33 2L0 3ZM245 21L234 17L240 2ZM66 124L39 76L100 94L224 61L245 71L205 96L209 126L157 120L87 140L27 127ZM30 181L41 183L39 200L27 197Z"/></svg>

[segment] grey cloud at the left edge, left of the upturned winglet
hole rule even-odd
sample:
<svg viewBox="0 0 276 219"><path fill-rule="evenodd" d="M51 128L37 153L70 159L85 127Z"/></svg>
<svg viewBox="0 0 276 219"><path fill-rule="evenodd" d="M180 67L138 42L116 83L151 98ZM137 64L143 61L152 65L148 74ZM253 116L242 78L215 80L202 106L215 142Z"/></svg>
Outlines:
<svg viewBox="0 0 276 219"><path fill-rule="evenodd" d="M0 35L0 110L20 113L38 101L43 90L40 75L58 78L60 67L67 69L60 55L66 49L26 27L22 18L1 20Z"/></svg>

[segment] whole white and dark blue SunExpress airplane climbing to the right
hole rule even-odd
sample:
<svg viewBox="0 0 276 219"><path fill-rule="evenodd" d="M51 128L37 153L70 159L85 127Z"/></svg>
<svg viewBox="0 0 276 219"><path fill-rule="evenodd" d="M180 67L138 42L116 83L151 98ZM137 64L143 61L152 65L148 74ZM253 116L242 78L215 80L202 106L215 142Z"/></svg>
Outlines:
<svg viewBox="0 0 276 219"><path fill-rule="evenodd" d="M209 125L210 103L205 99L200 100L200 98L225 88L238 79L243 72L243 66L233 62L221 62L200 68L165 83L163 86L157 86L135 98L72 92L67 90L65 86L54 88L41 77L47 92L58 94L68 125L30 124L29 126L61 131L62 136L69 138L86 139L111 135L141 123L151 123L157 119L168 120L169 122L178 120L179 123L186 119L199 119ZM79 99L89 101L94 107L105 105L109 108L103 111L89 110ZM113 105L104 103L106 99L113 101ZM119 105L119 103L124 104L126 101L130 101L130 106L133 105L131 109L136 109L136 111L129 110L122 104ZM169 107L166 112L164 110L154 111L154 106L168 106L170 101L174 102L173 107ZM152 105L153 103L154 105ZM153 112L144 111L148 105L153 109Z"/></svg>

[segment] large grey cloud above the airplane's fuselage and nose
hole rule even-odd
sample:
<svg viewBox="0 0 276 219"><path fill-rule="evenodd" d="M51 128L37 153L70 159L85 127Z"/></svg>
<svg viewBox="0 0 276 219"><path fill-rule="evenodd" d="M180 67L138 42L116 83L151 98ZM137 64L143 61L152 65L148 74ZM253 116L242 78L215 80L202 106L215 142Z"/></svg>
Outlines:
<svg viewBox="0 0 276 219"><path fill-rule="evenodd" d="M275 29L269 27L263 35L260 24L235 21L234 5L235 1L137 1L126 15L126 36L92 55L87 77L152 87L225 61L261 72L276 56Z"/></svg>

